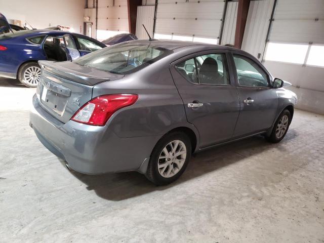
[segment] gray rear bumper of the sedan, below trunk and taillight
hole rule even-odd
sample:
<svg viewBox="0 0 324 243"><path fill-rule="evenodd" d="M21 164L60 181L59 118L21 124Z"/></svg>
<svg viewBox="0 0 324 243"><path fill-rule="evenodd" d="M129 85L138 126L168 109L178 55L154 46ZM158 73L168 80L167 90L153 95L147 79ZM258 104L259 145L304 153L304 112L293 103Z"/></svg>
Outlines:
<svg viewBox="0 0 324 243"><path fill-rule="evenodd" d="M36 95L30 110L30 126L52 153L69 168L84 174L139 171L145 173L157 137L119 138L107 126L89 126L69 120L60 123L39 106Z"/></svg>

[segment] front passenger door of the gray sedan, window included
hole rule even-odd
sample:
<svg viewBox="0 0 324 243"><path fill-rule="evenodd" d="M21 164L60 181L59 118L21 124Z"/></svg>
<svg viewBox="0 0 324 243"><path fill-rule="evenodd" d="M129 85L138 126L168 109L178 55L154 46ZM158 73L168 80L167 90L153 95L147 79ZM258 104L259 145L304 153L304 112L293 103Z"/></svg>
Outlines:
<svg viewBox="0 0 324 243"><path fill-rule="evenodd" d="M233 60L240 100L234 138L266 131L271 127L278 107L278 95L270 86L270 76L246 56L233 54Z"/></svg>

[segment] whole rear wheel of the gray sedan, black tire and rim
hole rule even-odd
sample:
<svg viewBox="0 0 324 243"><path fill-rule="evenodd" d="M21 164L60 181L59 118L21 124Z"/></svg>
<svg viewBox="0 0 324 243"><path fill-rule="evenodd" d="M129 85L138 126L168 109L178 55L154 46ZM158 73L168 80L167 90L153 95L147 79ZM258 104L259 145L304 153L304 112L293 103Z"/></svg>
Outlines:
<svg viewBox="0 0 324 243"><path fill-rule="evenodd" d="M155 185L170 184L185 171L190 156L191 142L186 134L167 134L155 145L145 176Z"/></svg>

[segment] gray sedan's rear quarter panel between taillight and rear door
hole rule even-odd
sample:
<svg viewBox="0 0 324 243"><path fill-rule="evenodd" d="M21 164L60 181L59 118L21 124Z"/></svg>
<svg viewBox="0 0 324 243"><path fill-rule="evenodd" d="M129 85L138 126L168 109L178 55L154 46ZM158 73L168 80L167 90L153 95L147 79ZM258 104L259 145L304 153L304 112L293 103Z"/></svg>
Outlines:
<svg viewBox="0 0 324 243"><path fill-rule="evenodd" d="M177 127L189 124L184 105L173 82L169 60L150 64L144 69L127 75L123 79L98 84L93 89L93 97L104 94L138 94L138 101L113 114L106 126L121 138L156 136L160 138ZM157 141L156 141L157 142ZM154 146L155 144L153 144Z"/></svg>

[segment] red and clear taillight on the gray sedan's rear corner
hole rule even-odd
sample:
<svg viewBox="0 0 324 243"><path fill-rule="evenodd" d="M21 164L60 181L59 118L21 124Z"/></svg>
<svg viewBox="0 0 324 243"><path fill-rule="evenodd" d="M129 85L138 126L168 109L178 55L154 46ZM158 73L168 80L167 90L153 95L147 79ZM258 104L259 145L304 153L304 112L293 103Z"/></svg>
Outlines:
<svg viewBox="0 0 324 243"><path fill-rule="evenodd" d="M133 105L138 95L103 95L82 106L71 118L78 123L104 126L117 110Z"/></svg>

